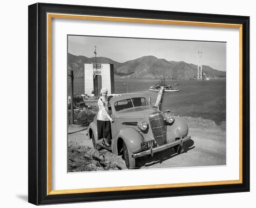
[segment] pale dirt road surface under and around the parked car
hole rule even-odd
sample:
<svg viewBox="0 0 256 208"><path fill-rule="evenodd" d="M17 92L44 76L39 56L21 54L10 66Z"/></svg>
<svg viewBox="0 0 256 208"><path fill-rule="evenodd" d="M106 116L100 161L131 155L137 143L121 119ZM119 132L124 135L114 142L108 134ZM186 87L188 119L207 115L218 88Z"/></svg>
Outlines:
<svg viewBox="0 0 256 208"><path fill-rule="evenodd" d="M226 164L226 133L220 129L189 128L191 140L184 143L184 150L176 154L173 148L155 153L153 157L146 156L136 160L138 169L212 166ZM73 141L81 146L93 147L87 136L87 130L68 135L68 142ZM105 156L111 152L100 150ZM125 168L125 162L118 158L118 163Z"/></svg>

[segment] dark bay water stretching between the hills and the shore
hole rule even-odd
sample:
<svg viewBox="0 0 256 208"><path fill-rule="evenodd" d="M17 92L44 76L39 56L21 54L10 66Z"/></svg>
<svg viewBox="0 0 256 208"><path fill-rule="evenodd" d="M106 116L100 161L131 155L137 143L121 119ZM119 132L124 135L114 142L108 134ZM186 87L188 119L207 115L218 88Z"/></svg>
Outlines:
<svg viewBox="0 0 256 208"><path fill-rule="evenodd" d="M154 104L157 91L148 89L158 82L159 79L115 77L115 93L141 92L152 97ZM179 85L173 85L174 83ZM226 79L167 79L165 84L178 87L180 91L164 92L162 111L171 110L176 116L202 117L213 120L216 124L226 121ZM70 82L68 86L70 91ZM84 93L84 78L74 78L74 93Z"/></svg>

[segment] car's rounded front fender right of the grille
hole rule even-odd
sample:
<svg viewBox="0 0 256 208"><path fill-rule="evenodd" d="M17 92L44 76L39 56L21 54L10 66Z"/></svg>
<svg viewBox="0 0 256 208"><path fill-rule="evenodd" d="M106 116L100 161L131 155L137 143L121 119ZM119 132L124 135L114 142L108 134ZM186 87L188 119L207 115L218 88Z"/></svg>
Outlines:
<svg viewBox="0 0 256 208"><path fill-rule="evenodd" d="M185 137L189 133L188 124L180 117L175 117L174 123L167 125L167 142L171 143L175 141L175 138L180 136Z"/></svg>

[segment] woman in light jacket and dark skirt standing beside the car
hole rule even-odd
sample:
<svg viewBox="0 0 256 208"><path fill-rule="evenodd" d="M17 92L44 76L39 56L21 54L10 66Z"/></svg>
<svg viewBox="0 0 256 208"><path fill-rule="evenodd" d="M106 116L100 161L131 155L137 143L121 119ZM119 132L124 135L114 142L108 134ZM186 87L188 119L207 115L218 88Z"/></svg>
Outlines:
<svg viewBox="0 0 256 208"><path fill-rule="evenodd" d="M111 140L111 126L110 122L114 120L108 114L108 90L106 88L101 89L101 97L98 100L99 111L97 115L97 132L98 139L102 139L102 144L109 147L109 141Z"/></svg>

